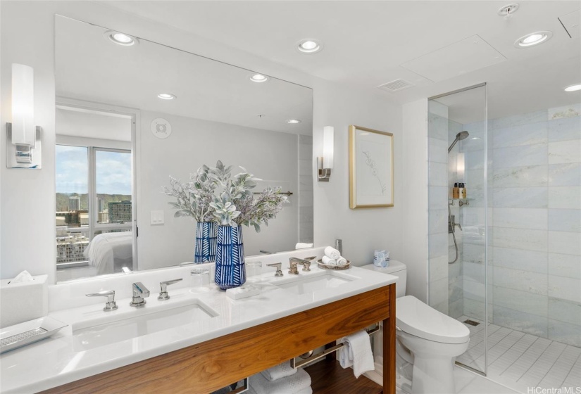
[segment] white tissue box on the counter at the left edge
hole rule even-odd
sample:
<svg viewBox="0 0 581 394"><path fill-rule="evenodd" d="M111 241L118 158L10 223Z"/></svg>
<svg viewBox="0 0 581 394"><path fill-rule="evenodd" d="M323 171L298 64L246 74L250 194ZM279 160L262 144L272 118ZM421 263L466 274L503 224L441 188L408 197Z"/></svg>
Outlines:
<svg viewBox="0 0 581 394"><path fill-rule="evenodd" d="M0 328L49 314L49 276L32 278L35 280L20 283L0 280Z"/></svg>

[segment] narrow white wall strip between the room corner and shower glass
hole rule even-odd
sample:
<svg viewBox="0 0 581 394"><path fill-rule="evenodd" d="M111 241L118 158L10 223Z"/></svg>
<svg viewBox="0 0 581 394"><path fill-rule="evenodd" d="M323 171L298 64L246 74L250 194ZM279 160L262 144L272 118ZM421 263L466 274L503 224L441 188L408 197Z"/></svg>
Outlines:
<svg viewBox="0 0 581 394"><path fill-rule="evenodd" d="M427 301L427 100L405 104L402 113L406 293Z"/></svg>

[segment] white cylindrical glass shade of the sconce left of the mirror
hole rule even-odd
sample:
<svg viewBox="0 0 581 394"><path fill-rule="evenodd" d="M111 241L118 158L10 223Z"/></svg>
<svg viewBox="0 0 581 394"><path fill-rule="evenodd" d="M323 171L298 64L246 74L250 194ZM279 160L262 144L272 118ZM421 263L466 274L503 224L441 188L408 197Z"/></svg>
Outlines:
<svg viewBox="0 0 581 394"><path fill-rule="evenodd" d="M32 67L12 65L12 144L35 146L35 80Z"/></svg>

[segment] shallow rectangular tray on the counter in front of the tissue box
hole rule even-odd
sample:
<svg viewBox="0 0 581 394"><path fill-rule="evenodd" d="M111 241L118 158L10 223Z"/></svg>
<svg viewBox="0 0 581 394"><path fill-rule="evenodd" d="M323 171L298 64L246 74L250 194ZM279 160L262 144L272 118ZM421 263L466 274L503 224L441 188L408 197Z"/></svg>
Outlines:
<svg viewBox="0 0 581 394"><path fill-rule="evenodd" d="M0 330L0 354L48 338L68 326L52 317L41 317Z"/></svg>

